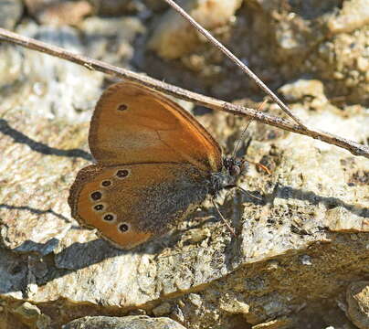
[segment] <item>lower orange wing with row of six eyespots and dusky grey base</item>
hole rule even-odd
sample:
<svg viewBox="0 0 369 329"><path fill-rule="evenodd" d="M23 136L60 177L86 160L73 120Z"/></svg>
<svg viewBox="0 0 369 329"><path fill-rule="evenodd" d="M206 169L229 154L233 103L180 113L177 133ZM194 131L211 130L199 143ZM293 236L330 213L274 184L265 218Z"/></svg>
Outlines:
<svg viewBox="0 0 369 329"><path fill-rule="evenodd" d="M206 197L207 173L192 164L90 165L69 195L72 216L121 249L163 234Z"/></svg>

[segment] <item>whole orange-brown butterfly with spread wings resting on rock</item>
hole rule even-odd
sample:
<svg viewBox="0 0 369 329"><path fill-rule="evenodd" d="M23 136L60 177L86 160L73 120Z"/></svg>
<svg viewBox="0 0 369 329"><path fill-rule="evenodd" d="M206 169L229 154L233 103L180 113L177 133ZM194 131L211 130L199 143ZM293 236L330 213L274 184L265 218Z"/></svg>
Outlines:
<svg viewBox="0 0 369 329"><path fill-rule="evenodd" d="M89 144L96 164L70 187L71 215L120 249L163 235L206 196L236 186L248 168L246 160L224 157L192 114L132 82L102 93Z"/></svg>

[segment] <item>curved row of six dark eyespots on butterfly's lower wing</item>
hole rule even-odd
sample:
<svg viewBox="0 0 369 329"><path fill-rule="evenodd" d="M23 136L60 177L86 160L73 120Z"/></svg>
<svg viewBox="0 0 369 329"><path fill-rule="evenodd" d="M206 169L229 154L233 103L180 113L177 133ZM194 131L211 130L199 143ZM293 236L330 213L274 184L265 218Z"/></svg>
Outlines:
<svg viewBox="0 0 369 329"><path fill-rule="evenodd" d="M124 179L124 178L128 177L130 175L130 173L131 173L130 170L119 169L119 170L116 171L114 176L118 179ZM100 186L101 187L112 186L112 181L110 179L103 180L100 183ZM103 191L99 191L99 190L92 192L90 194L90 198L91 198L92 202L99 201L102 198L103 193L104 193ZM100 203L92 206L92 209L97 211L97 212L102 212L106 207L107 207L106 203L100 202ZM117 219L117 215L115 215L114 213L111 213L111 212L103 213L101 219L105 222L114 223ZM121 232L126 232L130 229L130 227L129 227L129 224L127 224L127 223L121 223L121 224L119 224L118 229Z"/></svg>

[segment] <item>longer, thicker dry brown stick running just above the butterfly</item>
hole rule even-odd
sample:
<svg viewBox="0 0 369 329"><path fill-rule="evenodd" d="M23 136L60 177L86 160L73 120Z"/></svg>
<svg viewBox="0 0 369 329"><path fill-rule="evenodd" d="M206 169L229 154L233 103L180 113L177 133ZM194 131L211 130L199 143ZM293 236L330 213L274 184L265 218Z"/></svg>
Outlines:
<svg viewBox="0 0 369 329"><path fill-rule="evenodd" d="M214 98L207 97L193 91L178 88L168 83L164 83L163 81L155 80L151 77L132 72L128 69L121 69L104 63L100 60L74 54L63 48L52 46L30 37L19 36L16 33L10 32L3 28L0 28L0 40L8 41L25 48L47 53L58 58L67 59L71 62L82 65L87 69L95 69L100 72L110 74L112 76L116 76L126 80L132 80L154 90L162 91L163 93L173 95L174 97L185 101L192 101L196 104L206 106L207 108L213 110L227 111L235 115L246 116L248 118L253 118L258 122L263 122L292 133L300 133L311 138L320 140L322 142L342 147L343 149L348 150L354 155L361 155L369 158L369 147L364 144L356 143L343 137L335 136L331 133L324 133L312 129L303 129L300 125L291 123L285 119L277 118L267 113L249 109L240 105L235 105L227 101L216 100Z"/></svg>

